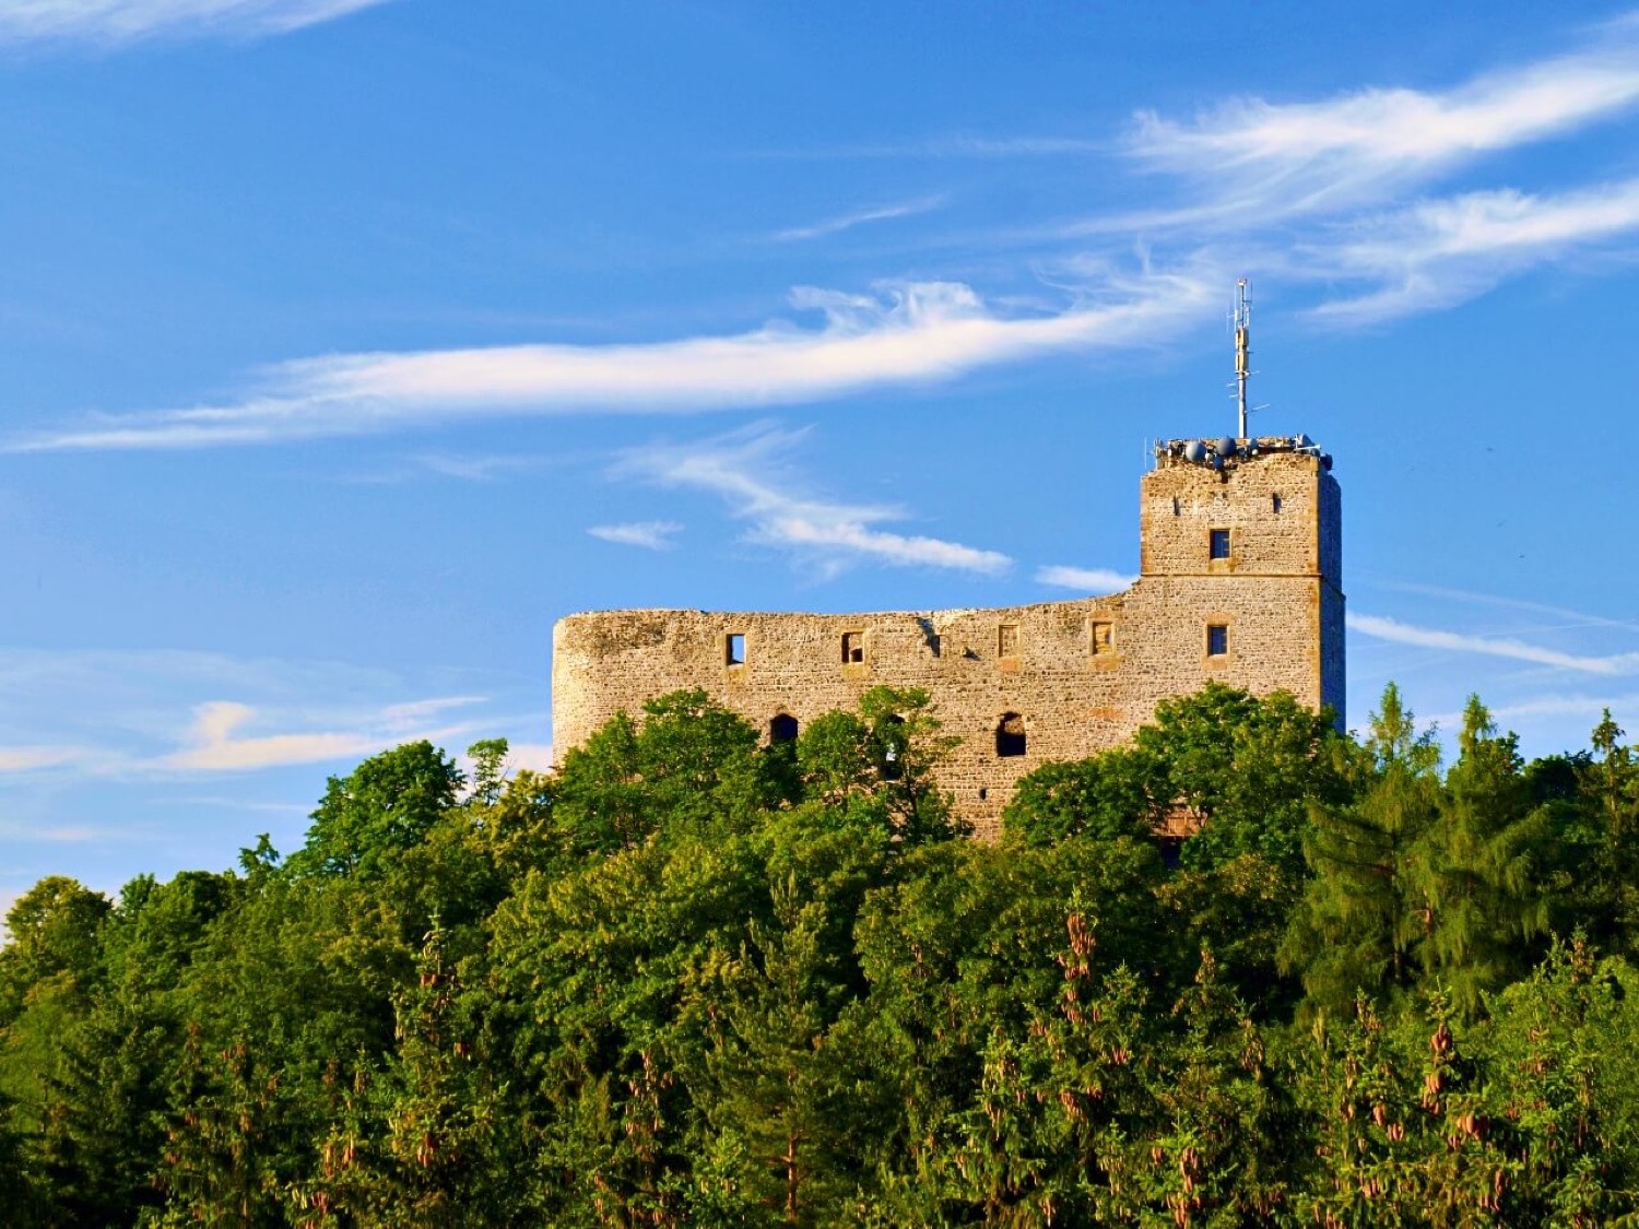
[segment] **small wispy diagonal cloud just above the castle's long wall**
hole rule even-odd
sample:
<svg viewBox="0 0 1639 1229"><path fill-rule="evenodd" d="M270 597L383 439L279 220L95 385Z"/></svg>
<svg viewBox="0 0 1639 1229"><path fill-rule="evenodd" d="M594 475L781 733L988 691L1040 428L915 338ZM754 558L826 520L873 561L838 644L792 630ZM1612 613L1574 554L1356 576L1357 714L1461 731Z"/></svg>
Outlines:
<svg viewBox="0 0 1639 1229"><path fill-rule="evenodd" d="M783 454L800 438L759 426L695 444L659 444L626 454L616 474L721 495L734 516L751 523L751 541L818 560L824 575L856 562L977 575L1000 575L1013 565L998 551L877 528L905 519L900 508L793 495Z"/></svg>

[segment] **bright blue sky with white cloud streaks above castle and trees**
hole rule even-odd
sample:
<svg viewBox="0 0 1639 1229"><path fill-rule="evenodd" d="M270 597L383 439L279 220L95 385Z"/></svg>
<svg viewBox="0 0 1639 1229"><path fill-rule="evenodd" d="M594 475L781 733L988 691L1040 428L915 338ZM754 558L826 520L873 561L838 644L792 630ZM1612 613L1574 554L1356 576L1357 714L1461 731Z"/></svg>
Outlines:
<svg viewBox="0 0 1639 1229"><path fill-rule="evenodd" d="M0 0L0 905L543 762L575 610L1123 583L1241 275L1349 724L1639 731L1636 131L1613 5Z"/></svg>

